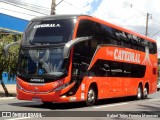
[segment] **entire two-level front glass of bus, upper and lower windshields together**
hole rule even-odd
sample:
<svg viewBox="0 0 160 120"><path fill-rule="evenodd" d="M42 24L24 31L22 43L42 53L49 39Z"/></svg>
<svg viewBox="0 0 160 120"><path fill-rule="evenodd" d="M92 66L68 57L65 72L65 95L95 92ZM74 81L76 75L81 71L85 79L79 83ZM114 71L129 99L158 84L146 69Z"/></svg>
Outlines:
<svg viewBox="0 0 160 120"><path fill-rule="evenodd" d="M63 51L73 28L74 19L31 21L22 40L18 76L25 80L67 76L68 60L64 59Z"/></svg>

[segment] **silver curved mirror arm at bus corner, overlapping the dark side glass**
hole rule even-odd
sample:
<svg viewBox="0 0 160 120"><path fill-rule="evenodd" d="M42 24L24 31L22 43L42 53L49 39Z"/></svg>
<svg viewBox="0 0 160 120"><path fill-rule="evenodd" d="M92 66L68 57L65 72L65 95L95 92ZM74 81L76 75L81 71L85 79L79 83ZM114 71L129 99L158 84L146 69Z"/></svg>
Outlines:
<svg viewBox="0 0 160 120"><path fill-rule="evenodd" d="M75 44L83 42L83 41L91 40L91 39L92 39L92 36L86 36L86 37L79 37L79 38L76 38L76 39L73 39L73 40L67 42L64 46L63 57L64 58L69 57L70 50Z"/></svg>

